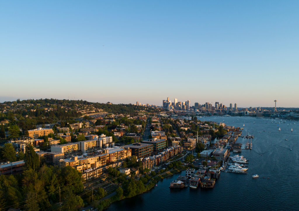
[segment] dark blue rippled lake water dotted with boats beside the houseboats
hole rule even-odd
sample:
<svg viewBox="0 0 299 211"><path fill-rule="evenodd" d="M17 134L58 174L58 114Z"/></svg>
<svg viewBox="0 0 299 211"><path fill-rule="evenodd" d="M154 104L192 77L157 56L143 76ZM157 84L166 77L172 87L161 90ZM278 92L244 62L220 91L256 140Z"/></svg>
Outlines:
<svg viewBox="0 0 299 211"><path fill-rule="evenodd" d="M247 140L252 140L252 150L240 153L250 160L248 174L221 172L213 189L169 189L173 179L185 174L182 171L144 194L111 204L108 210L299 210L299 122L279 124L279 120L271 123L271 119L252 117L199 120L224 121L235 127L245 124L242 135L249 132L254 139L238 138L237 142L244 148ZM260 177L253 179L252 174Z"/></svg>

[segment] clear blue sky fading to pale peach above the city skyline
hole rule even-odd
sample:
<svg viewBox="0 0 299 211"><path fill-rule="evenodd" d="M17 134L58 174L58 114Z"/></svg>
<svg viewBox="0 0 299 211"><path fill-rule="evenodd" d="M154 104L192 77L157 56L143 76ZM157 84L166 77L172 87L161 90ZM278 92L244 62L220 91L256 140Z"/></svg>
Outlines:
<svg viewBox="0 0 299 211"><path fill-rule="evenodd" d="M0 102L299 107L299 1L0 1Z"/></svg>

